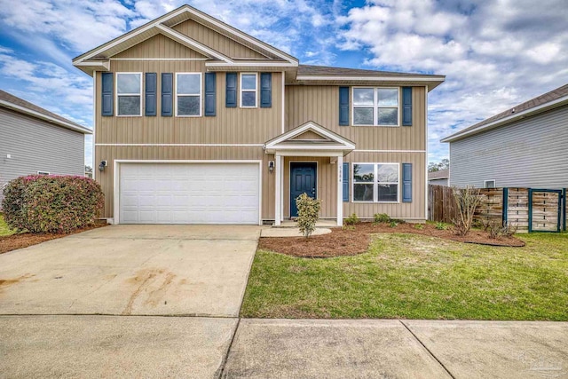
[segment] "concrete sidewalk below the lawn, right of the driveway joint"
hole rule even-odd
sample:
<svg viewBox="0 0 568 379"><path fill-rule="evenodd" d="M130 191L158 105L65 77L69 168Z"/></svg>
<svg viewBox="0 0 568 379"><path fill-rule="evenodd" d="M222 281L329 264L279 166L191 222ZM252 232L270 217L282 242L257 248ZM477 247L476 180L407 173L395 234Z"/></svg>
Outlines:
<svg viewBox="0 0 568 379"><path fill-rule="evenodd" d="M568 323L241 320L225 378L565 378Z"/></svg>

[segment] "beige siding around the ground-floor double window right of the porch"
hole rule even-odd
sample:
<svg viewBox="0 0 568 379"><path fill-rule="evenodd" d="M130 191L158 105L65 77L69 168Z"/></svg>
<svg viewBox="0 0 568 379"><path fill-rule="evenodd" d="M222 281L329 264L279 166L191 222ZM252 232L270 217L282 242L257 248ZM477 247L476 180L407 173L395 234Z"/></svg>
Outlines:
<svg viewBox="0 0 568 379"><path fill-rule="evenodd" d="M356 213L359 218L373 218L375 213L386 213L390 217L402 219L426 219L426 154L425 153L358 153L345 157L349 162L350 202L343 202L343 217ZM400 163L398 178L399 203L352 202L353 167L351 163ZM402 202L402 163L412 163L412 202Z"/></svg>

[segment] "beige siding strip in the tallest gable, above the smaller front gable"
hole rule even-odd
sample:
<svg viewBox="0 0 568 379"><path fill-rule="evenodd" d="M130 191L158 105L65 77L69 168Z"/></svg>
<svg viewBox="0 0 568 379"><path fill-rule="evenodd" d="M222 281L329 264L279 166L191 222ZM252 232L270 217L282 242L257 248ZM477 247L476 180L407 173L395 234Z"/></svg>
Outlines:
<svg viewBox="0 0 568 379"><path fill-rule="evenodd" d="M263 54L206 28L194 20L186 20L177 24L173 29L231 58L266 59Z"/></svg>

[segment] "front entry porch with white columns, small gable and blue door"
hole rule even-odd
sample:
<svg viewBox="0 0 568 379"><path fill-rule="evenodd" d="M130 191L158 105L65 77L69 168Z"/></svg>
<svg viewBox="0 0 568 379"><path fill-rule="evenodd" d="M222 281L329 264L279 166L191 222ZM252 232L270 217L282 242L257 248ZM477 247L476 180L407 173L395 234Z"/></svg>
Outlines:
<svg viewBox="0 0 568 379"><path fill-rule="evenodd" d="M266 142L274 154L274 225L297 216L295 199L307 193L322 201L320 217L343 225L343 156L355 148L350 140L306 122Z"/></svg>

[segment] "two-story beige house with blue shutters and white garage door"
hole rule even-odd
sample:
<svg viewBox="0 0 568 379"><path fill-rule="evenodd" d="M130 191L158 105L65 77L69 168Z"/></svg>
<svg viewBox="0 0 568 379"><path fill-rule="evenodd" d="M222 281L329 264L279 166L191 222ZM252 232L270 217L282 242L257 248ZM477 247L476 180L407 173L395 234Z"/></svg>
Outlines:
<svg viewBox="0 0 568 379"><path fill-rule="evenodd" d="M73 60L94 82L95 178L114 224L427 213L441 75L300 65L184 5Z"/></svg>

